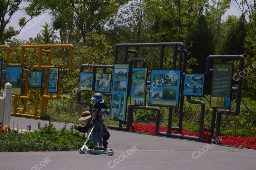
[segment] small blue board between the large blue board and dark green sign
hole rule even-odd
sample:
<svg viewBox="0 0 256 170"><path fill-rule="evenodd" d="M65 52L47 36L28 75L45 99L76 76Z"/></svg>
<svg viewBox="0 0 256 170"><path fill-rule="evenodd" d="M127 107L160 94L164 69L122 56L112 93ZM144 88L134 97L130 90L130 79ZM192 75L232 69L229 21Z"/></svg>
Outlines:
<svg viewBox="0 0 256 170"><path fill-rule="evenodd" d="M184 79L183 95L203 96L205 74L186 73Z"/></svg>

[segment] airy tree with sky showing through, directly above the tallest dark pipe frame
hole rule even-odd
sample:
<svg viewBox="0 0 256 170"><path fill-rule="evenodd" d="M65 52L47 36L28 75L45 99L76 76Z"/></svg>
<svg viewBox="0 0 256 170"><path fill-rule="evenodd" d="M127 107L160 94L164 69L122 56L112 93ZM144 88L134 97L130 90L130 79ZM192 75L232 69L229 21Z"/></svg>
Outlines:
<svg viewBox="0 0 256 170"><path fill-rule="evenodd" d="M114 43L144 43L149 34L150 22L144 12L142 0L133 0L122 7L118 15L108 24L107 34L114 38ZM138 48L137 48L138 50Z"/></svg>

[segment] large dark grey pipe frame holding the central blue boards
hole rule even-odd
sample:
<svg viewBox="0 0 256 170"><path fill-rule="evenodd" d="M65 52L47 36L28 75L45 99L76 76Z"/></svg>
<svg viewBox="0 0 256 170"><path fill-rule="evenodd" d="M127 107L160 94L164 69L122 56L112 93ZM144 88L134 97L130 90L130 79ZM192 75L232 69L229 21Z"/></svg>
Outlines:
<svg viewBox="0 0 256 170"><path fill-rule="evenodd" d="M146 44L117 44L116 48L115 48L115 63L117 63L118 61L118 47L122 47L123 45L125 45L125 56L124 56L124 63L127 63L128 60L128 53L134 53L135 56L133 59L131 59L130 63L132 64L132 62L134 62L134 67L137 66L137 62L141 61L142 62L142 67L145 67L145 60L144 59L139 59L138 57L138 52L135 50L130 50L128 49L129 46L160 46L160 62L159 62L159 69L163 68L163 57L164 57L164 47L165 46L174 46L174 55L173 55L173 65L172 65L172 69L176 69L176 62L177 62L177 52L179 52L179 65L178 65L178 69L182 69L182 59L183 59L183 53L184 53L184 59L183 59L183 70L182 70L182 85L181 87L184 86L184 75L186 72L186 66L187 66L187 50L184 50L184 45L183 43L146 43ZM178 45L180 45L180 49L178 49ZM102 67L103 66L103 67ZM110 67L108 67L110 66ZM82 65L81 65L82 67ZM89 67L89 65L83 65L83 68L85 67ZM83 70L82 68L82 70ZM113 65L95 65L94 68L94 72L96 71L96 68L103 68L104 73L106 72L107 68L113 68ZM81 71L81 68L80 68ZM147 81L147 84L150 85L150 81ZM111 95L111 93L109 93ZM128 93L129 94L129 93ZM181 94L183 94L183 88L181 88ZM78 96L80 96L80 100L81 100L81 93L78 94ZM200 127L203 126L203 120L204 120L204 109L202 108L202 101L193 101L191 100L191 102L195 102L195 104L201 104L201 112L203 112L203 114L201 113L201 117L200 117ZM87 103L87 102L85 102ZM178 137L178 138L182 138L182 139L190 139L190 140L201 140L201 135L199 135L199 137L195 137L195 136L188 136L188 135L181 135L181 134L172 134L171 130L178 130L179 132L182 131L182 121L183 121L183 104L184 104L184 95L181 95L180 98L180 114L179 114L179 127L171 127L172 125L172 109L173 108L169 108L169 119L168 119L168 131L167 133L165 132L160 132L159 131L159 126L160 126L160 109L158 107L143 107L143 106L132 106L130 105L128 107L128 113L127 113L127 122L119 122L119 126L110 126L107 125L108 128L111 129L117 129L117 130L127 130L129 131L130 126L132 125L132 119L133 119L133 110L134 109L142 109L142 110L155 110L157 112L157 116L156 116L156 134L157 135L162 135L162 136L169 136L169 137ZM91 103L92 106L92 103ZM122 127L123 123L127 123L127 127ZM200 132L201 130L201 132ZM199 129L199 133L202 134L202 128Z"/></svg>

